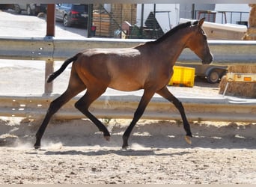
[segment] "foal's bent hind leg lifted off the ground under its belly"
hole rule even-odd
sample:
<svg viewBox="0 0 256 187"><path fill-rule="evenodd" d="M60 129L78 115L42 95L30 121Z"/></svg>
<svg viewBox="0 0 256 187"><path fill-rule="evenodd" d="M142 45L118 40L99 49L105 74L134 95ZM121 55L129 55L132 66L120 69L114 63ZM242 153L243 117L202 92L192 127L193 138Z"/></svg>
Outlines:
<svg viewBox="0 0 256 187"><path fill-rule="evenodd" d="M96 86L97 87L97 86ZM109 130L106 128L106 126L103 125L103 123L100 122L100 120L97 119L93 114L91 114L90 111L88 111L89 106L91 105L94 100L96 100L101 94L103 94L106 91L106 88L97 88L95 90L87 89L84 96L82 96L81 99L79 99L78 102L76 102L75 106L79 111L82 112L82 114L85 114L86 117L88 117L97 127L98 129L103 132L104 138L106 138L107 141L109 141L110 134Z"/></svg>

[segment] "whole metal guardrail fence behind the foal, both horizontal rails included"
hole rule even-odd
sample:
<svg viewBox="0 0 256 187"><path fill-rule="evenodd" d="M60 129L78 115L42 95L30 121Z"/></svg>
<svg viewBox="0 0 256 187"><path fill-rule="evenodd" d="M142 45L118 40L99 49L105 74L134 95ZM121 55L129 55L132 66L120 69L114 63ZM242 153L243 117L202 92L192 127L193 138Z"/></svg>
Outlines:
<svg viewBox="0 0 256 187"><path fill-rule="evenodd" d="M0 58L20 60L46 61L46 77L52 73L53 62L64 60L76 52L88 48L122 48L144 43L147 40L97 39L86 40L55 40L52 37L41 38L1 38ZM255 41L209 41L210 49L215 55L215 61L221 64L254 64L256 62ZM178 61L198 61L188 49L184 50ZM42 96L0 96L1 116L42 117L55 96L51 93L51 85L45 86ZM91 106L91 111L97 117L130 118L138 105L139 96L101 96ZM65 119L84 117L73 103L75 97L55 115ZM189 120L228 120L228 121L256 121L255 100L232 102L225 98L181 98ZM153 98L143 115L148 119L180 120L180 114L171 103L164 99Z"/></svg>

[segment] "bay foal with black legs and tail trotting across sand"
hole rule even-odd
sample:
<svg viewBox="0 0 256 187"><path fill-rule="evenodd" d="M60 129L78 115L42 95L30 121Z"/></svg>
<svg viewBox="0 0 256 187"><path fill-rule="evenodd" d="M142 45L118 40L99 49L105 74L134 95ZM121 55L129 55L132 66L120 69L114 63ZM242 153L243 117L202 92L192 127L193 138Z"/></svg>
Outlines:
<svg viewBox="0 0 256 187"><path fill-rule="evenodd" d="M85 89L85 95L75 103L75 107L85 114L109 141L109 130L88 110L91 103L107 88L114 88L118 91L144 89L133 119L124 132L122 145L124 149L128 147L128 138L132 128L144 113L154 93L172 102L180 111L183 128L186 131L185 139L191 144L192 132L183 105L168 91L166 85L173 74L173 66L184 48L195 52L203 64L210 64L213 61L207 36L202 29L203 23L204 19L200 19L177 25L159 39L132 48L86 49L68 58L47 80L47 82L52 82L68 64L73 62L67 90L50 103L46 116L37 131L34 148L40 148L41 138L52 115L73 96Z"/></svg>

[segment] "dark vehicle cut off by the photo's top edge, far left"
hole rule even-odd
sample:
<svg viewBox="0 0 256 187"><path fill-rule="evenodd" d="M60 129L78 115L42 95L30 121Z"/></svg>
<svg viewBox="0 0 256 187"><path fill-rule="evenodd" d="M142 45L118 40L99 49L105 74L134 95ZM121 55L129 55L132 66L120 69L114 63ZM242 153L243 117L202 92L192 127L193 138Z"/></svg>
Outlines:
<svg viewBox="0 0 256 187"><path fill-rule="evenodd" d="M16 13L21 13L22 10L27 11L28 15L35 16L37 13L46 13L47 4L14 4Z"/></svg>

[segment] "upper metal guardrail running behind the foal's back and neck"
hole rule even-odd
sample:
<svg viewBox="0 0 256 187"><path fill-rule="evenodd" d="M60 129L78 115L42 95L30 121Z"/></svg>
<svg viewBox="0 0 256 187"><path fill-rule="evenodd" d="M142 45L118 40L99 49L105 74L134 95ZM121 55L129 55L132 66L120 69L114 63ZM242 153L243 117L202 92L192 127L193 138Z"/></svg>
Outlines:
<svg viewBox="0 0 256 187"><path fill-rule="evenodd" d="M149 40L86 38L84 40L53 39L52 37L0 38L0 58L20 60L62 61L77 52L91 48L124 48ZM252 64L256 62L256 41L210 40L214 63ZM178 61L200 61L184 49Z"/></svg>

